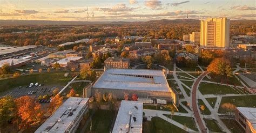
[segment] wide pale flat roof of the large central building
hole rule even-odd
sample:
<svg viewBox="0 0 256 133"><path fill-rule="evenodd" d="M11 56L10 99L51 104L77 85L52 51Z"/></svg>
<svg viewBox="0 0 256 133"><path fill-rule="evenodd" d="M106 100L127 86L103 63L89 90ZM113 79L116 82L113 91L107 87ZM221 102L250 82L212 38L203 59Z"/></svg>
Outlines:
<svg viewBox="0 0 256 133"><path fill-rule="evenodd" d="M107 69L93 87L170 92L164 72L147 69Z"/></svg>

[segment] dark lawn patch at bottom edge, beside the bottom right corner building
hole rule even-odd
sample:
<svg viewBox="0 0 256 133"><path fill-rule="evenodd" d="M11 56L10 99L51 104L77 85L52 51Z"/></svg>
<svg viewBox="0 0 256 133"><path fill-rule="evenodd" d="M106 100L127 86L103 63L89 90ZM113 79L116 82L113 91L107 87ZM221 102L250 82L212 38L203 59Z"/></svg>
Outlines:
<svg viewBox="0 0 256 133"><path fill-rule="evenodd" d="M238 124L235 120L230 119L230 123L228 123L228 119L221 119L221 121L223 121L227 128L230 129L233 133L245 132L241 125Z"/></svg>

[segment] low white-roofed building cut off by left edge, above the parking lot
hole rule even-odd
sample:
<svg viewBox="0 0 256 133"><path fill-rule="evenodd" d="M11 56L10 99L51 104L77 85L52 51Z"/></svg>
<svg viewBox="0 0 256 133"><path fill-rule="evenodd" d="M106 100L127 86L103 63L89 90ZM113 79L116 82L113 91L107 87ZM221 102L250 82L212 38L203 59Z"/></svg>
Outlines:
<svg viewBox="0 0 256 133"><path fill-rule="evenodd" d="M12 68L18 68L18 67L21 67L22 65L25 65L26 63L30 63L30 62L31 62L30 59L8 58L8 59L0 61L0 68L2 68L2 66L4 64L9 64L9 66Z"/></svg>

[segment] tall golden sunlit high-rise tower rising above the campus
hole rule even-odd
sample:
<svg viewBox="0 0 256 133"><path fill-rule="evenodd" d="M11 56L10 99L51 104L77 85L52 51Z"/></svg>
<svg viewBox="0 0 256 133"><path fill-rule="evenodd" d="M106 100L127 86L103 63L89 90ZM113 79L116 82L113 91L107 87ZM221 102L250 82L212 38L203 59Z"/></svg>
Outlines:
<svg viewBox="0 0 256 133"><path fill-rule="evenodd" d="M230 19L223 17L201 20L200 34L202 47L229 47Z"/></svg>

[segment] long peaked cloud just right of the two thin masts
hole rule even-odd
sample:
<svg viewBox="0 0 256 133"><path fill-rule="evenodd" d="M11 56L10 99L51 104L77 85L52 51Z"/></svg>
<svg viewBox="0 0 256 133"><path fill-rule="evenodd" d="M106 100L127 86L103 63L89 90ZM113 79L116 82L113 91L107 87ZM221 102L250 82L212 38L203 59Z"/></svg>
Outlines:
<svg viewBox="0 0 256 133"><path fill-rule="evenodd" d="M117 4L115 6L113 6L112 8L96 8L98 11L104 11L104 12L126 12L126 11L133 11L138 8L129 8L128 6L126 6L125 4Z"/></svg>

